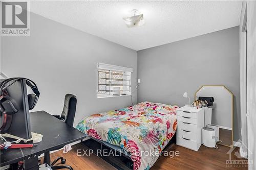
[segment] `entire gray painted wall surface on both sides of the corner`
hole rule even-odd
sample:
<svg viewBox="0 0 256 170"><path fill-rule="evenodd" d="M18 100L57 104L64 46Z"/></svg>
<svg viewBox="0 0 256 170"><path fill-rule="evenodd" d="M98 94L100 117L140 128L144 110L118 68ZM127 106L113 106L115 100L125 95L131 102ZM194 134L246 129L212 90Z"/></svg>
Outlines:
<svg viewBox="0 0 256 170"><path fill-rule="evenodd" d="M141 79L138 102L183 106L204 84L223 84L234 94L234 140L240 136L239 28L136 51L31 13L31 35L1 37L1 71L34 80L41 92L34 110L60 114L66 93L78 98L82 117L131 104L129 96L97 99L96 63L132 67ZM137 74L138 68L138 74ZM204 72L201 70L205 70ZM194 72L200 72L196 76ZM136 103L136 92L134 93Z"/></svg>

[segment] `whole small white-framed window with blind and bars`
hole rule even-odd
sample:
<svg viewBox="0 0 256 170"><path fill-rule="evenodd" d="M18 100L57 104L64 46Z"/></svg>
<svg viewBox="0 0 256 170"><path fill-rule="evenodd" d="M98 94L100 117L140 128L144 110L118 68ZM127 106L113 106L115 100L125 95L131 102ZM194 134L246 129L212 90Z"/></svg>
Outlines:
<svg viewBox="0 0 256 170"><path fill-rule="evenodd" d="M131 95L132 68L98 63L98 98Z"/></svg>

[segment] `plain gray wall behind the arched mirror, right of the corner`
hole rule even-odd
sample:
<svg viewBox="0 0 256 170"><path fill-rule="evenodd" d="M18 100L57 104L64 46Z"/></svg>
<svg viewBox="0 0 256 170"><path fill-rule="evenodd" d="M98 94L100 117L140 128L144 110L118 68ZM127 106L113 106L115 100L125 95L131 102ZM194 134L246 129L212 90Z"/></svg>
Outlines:
<svg viewBox="0 0 256 170"><path fill-rule="evenodd" d="M184 106L201 85L225 85L234 94L234 141L240 137L239 27L137 52L138 102Z"/></svg>

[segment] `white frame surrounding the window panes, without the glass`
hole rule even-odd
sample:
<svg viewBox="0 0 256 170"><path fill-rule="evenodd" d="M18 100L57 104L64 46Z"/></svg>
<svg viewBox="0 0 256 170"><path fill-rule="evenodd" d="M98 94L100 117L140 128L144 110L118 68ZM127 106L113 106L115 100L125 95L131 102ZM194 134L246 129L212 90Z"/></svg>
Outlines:
<svg viewBox="0 0 256 170"><path fill-rule="evenodd" d="M99 73L98 70L110 70L110 81L111 81L111 71L123 71L123 72L131 72L131 80L130 80L130 91L126 95L113 95L113 94L99 94ZM133 68L129 67L122 67L122 66L117 66L117 65L111 65L111 64L104 64L104 63L97 63L97 98L113 98L113 97L119 97L119 96L129 96L132 94L132 73L133 73ZM109 87L111 89L111 85Z"/></svg>

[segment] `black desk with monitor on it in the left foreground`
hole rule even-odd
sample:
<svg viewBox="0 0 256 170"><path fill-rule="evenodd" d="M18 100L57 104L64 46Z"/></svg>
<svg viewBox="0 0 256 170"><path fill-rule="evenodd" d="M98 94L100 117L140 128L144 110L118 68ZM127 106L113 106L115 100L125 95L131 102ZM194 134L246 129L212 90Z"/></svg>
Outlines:
<svg viewBox="0 0 256 170"><path fill-rule="evenodd" d="M42 141L36 143L37 146L33 148L1 150L0 166L25 160L26 169L29 169L30 165L32 167L33 164L38 164L37 159L40 154L86 138L86 134L68 126L45 111L30 113L30 122L31 131L43 135Z"/></svg>

